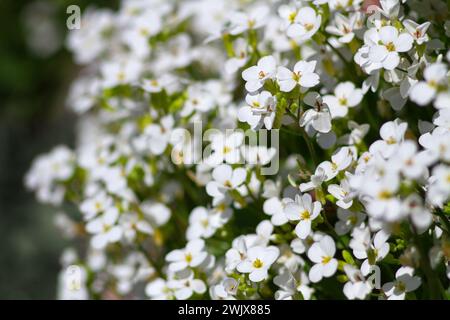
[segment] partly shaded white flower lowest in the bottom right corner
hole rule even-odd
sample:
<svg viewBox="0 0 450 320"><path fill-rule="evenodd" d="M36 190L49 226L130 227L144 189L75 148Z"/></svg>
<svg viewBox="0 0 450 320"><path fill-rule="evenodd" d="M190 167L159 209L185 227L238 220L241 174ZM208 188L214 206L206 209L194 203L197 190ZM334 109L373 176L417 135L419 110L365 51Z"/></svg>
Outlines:
<svg viewBox="0 0 450 320"><path fill-rule="evenodd" d="M421 280L413 276L414 269L411 267L401 267L395 273L395 281L383 285L382 290L388 300L404 300L406 293L416 290Z"/></svg>

